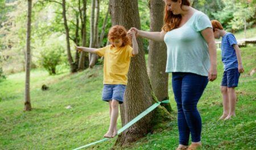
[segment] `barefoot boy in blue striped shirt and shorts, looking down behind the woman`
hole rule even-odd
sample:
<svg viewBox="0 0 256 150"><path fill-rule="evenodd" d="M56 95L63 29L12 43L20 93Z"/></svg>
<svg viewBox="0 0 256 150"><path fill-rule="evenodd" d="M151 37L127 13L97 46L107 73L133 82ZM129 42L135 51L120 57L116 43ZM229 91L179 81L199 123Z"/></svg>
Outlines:
<svg viewBox="0 0 256 150"><path fill-rule="evenodd" d="M214 38L222 37L221 58L224 64L224 73L221 82L221 93L223 99L223 114L219 120L227 120L236 117L236 92L240 73L243 73L240 48L237 40L230 32L226 32L221 23L212 20Z"/></svg>

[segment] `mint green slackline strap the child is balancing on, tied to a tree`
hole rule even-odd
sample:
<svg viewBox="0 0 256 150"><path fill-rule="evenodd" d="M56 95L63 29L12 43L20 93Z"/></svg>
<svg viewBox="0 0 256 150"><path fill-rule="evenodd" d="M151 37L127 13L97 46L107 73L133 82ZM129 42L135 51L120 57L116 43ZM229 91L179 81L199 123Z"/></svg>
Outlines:
<svg viewBox="0 0 256 150"><path fill-rule="evenodd" d="M158 101L156 102L154 105L150 106L148 109L144 110L144 112L142 112L141 114L139 114L137 117L135 117L134 119L132 119L130 122L128 122L125 126L123 126L122 128L120 128L117 131L117 134L121 134L121 132L125 131L127 128L129 128L131 125L133 125L134 123L136 123L137 121L139 121L139 119L143 118L145 115L147 115L148 113L150 113L152 110L154 110L155 108L157 108L160 104L162 103L169 103L169 100L164 100L164 101ZM104 138L101 140L98 140L96 142L81 146L79 148L73 149L73 150L77 150L77 149L81 149L81 148L85 148L85 147L89 147L90 145L94 145L100 142L104 142L105 140L108 140L109 138Z"/></svg>

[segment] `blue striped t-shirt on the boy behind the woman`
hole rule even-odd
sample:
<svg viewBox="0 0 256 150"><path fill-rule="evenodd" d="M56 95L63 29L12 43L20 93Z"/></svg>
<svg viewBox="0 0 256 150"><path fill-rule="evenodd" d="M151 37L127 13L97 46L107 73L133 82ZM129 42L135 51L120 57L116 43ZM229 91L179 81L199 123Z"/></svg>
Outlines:
<svg viewBox="0 0 256 150"><path fill-rule="evenodd" d="M224 71L238 68L236 50L233 48L234 44L237 44L236 37L227 32L221 40L221 60L224 64Z"/></svg>

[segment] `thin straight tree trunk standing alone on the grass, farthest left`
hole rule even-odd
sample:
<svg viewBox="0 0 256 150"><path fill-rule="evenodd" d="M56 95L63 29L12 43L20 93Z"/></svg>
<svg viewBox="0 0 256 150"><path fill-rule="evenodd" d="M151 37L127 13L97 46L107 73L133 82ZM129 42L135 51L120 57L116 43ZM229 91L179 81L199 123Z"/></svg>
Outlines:
<svg viewBox="0 0 256 150"><path fill-rule="evenodd" d="M32 12L32 0L27 1L28 12L27 12L27 53L26 53L26 82L25 82L25 102L24 110L31 110L30 102L30 61L31 61L31 49L30 49L30 37L31 37L31 12Z"/></svg>

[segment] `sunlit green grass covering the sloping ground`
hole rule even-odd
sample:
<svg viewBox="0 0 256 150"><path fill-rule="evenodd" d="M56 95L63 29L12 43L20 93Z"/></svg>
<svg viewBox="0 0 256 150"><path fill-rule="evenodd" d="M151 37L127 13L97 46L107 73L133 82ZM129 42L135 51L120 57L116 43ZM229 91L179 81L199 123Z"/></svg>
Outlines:
<svg viewBox="0 0 256 150"><path fill-rule="evenodd" d="M222 114L220 82L223 70L218 52L218 78L208 84L198 106L203 120L203 149L256 149L256 74L248 75L256 67L255 52L255 47L242 49L245 73L236 89L237 117L217 122ZM23 112L24 78L22 72L9 75L0 83L0 149L73 149L102 139L109 126L108 104L101 101L102 66L55 76L33 70L31 112ZM48 91L41 91L43 84L49 86ZM176 116L171 80L169 84ZM66 109L68 105L72 109ZM121 127L120 118L118 127ZM179 137L177 122L168 123L162 130L123 149L175 149ZM115 139L88 149L110 149Z"/></svg>

